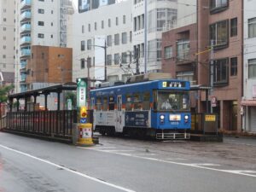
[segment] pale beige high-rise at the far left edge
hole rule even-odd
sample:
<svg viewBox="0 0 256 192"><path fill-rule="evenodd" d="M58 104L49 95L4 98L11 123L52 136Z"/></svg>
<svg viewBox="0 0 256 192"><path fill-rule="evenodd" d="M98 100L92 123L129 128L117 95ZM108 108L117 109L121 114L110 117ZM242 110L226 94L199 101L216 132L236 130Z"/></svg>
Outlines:
<svg viewBox="0 0 256 192"><path fill-rule="evenodd" d="M0 71L15 73L15 0L0 1Z"/></svg>

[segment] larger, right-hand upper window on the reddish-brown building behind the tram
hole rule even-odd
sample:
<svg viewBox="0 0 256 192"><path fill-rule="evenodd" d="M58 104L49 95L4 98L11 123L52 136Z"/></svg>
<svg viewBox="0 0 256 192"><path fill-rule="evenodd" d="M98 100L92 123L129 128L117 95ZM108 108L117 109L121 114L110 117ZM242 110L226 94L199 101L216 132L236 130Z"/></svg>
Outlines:
<svg viewBox="0 0 256 192"><path fill-rule="evenodd" d="M177 61L189 59L189 39L180 39L177 41Z"/></svg>

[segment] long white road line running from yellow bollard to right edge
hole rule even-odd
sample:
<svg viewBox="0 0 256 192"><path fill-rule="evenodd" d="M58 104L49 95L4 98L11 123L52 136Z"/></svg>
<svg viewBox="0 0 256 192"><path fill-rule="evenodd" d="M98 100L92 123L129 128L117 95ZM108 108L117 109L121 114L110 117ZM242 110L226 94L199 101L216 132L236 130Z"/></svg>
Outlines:
<svg viewBox="0 0 256 192"><path fill-rule="evenodd" d="M83 148L83 147L79 147L79 148ZM83 149L99 151L95 148L83 148ZM250 172L237 172L236 170L223 170L223 169L217 169L217 168L212 168L212 167L207 167L207 166L200 166L197 164L181 163L181 162L175 162L175 161L171 161L171 160L160 160L160 159L156 159L156 158L143 157L143 156L138 156L136 154L123 154L123 153L116 153L116 152L108 152L106 150L102 150L101 152L109 153L109 154L120 154L120 155L130 156L133 158L138 158L138 159L143 159L143 160L154 160L154 161L158 161L158 162L174 164L174 165L179 165L179 166L190 166L190 167L194 167L194 168L206 169L206 170L215 171L215 172L225 172L225 173L232 173L232 174L248 176L248 177L256 177L256 175L250 174ZM245 171L248 171L248 170L245 170Z"/></svg>

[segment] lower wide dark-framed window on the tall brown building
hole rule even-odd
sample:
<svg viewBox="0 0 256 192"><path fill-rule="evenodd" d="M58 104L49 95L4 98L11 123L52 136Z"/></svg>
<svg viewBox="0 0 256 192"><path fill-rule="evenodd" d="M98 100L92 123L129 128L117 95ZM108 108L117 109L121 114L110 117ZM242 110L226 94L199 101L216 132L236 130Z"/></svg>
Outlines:
<svg viewBox="0 0 256 192"><path fill-rule="evenodd" d="M213 85L228 84L228 59L219 59L213 61Z"/></svg>

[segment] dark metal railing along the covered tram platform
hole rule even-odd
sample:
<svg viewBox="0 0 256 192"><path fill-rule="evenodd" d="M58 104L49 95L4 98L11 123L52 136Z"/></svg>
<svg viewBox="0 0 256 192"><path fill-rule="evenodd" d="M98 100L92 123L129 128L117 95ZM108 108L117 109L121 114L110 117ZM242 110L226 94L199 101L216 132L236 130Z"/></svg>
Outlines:
<svg viewBox="0 0 256 192"><path fill-rule="evenodd" d="M37 111L7 113L6 131L44 137L72 138L77 111Z"/></svg>

